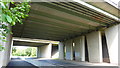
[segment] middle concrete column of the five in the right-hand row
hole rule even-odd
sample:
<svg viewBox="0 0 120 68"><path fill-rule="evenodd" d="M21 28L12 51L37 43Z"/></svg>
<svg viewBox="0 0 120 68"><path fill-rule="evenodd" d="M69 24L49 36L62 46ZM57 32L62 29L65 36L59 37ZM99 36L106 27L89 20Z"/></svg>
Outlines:
<svg viewBox="0 0 120 68"><path fill-rule="evenodd" d="M85 61L85 37L77 37L74 39L75 43L75 60Z"/></svg>

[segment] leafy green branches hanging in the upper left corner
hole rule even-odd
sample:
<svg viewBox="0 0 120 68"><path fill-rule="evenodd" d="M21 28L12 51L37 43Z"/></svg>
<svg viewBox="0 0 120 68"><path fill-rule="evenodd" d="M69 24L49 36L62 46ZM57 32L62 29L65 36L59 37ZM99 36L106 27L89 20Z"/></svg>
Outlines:
<svg viewBox="0 0 120 68"><path fill-rule="evenodd" d="M22 23L22 20L28 17L30 11L29 2L3 2L0 1L0 40L6 42L6 36L11 33L8 25L14 26L16 23ZM10 6L10 7L9 7ZM4 49L0 44L0 51Z"/></svg>

